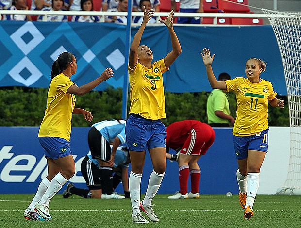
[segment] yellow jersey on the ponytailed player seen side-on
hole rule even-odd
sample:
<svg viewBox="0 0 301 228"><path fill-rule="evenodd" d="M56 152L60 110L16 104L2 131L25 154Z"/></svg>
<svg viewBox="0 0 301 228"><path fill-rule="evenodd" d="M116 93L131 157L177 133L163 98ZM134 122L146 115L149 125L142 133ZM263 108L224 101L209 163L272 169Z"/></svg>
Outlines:
<svg viewBox="0 0 301 228"><path fill-rule="evenodd" d="M69 77L62 73L52 79L38 137L58 137L70 141L75 96L67 93L67 90L73 84Z"/></svg>

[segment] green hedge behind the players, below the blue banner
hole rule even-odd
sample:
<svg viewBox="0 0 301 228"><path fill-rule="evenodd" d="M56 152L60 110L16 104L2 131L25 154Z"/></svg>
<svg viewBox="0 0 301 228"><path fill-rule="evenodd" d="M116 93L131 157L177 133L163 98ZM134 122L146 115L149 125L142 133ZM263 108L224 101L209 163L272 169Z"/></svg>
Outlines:
<svg viewBox="0 0 301 228"><path fill-rule="evenodd" d="M47 88L2 88L0 89L0 126L39 126L45 114ZM206 102L208 93L166 92L166 115L162 122L168 126L175 121L196 119L207 123ZM232 116L236 117L236 98L228 93ZM284 109L269 107L270 126L289 126L287 98ZM121 118L122 88L108 88L103 92L91 91L76 97L76 107L89 110L93 114L92 123L106 119ZM128 98L128 110L130 99ZM91 123L82 115L73 115L72 126L88 127Z"/></svg>

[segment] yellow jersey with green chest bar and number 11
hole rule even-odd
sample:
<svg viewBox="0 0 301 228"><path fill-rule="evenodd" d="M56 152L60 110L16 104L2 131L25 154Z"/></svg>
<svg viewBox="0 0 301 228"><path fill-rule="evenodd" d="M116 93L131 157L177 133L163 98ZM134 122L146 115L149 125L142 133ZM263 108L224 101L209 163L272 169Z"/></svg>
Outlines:
<svg viewBox="0 0 301 228"><path fill-rule="evenodd" d="M225 81L228 91L234 91L237 98L235 136L250 136L268 128L268 101L276 97L273 85L260 79L252 83L247 78Z"/></svg>

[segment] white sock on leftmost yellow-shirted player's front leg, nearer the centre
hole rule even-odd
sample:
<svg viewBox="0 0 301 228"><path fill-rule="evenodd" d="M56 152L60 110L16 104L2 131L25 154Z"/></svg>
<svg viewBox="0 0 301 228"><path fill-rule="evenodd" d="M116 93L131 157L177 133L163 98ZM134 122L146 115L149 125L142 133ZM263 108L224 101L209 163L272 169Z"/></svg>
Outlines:
<svg viewBox="0 0 301 228"><path fill-rule="evenodd" d="M51 180L50 185L41 198L39 204L42 205L49 205L50 199L57 194L58 191L64 186L64 184L67 183L67 179L63 177L61 173L58 173L54 176L54 178Z"/></svg>

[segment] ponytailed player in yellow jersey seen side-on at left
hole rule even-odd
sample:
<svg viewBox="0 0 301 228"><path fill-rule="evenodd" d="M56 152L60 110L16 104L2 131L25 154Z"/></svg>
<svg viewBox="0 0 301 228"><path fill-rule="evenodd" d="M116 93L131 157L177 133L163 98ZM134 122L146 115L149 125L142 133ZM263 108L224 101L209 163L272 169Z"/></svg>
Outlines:
<svg viewBox="0 0 301 228"><path fill-rule="evenodd" d="M72 114L83 114L90 122L93 116L89 111L74 107L74 95L82 96L113 76L113 70L107 68L99 78L77 87L70 80L76 70L76 59L69 52L60 54L52 65L47 108L38 135L39 142L45 149L48 174L40 183L33 201L24 212L26 219L50 220L48 210L50 199L75 173L75 163L69 143Z"/></svg>

